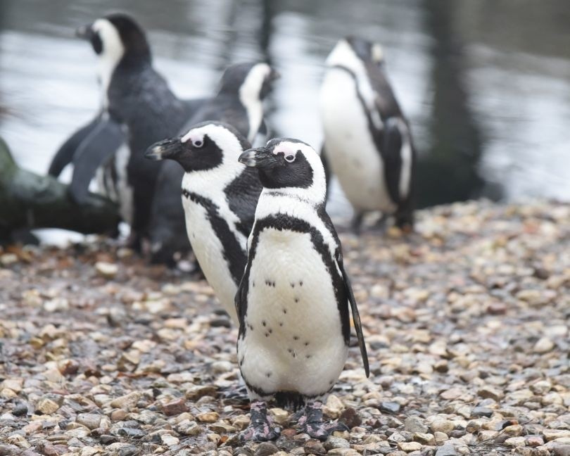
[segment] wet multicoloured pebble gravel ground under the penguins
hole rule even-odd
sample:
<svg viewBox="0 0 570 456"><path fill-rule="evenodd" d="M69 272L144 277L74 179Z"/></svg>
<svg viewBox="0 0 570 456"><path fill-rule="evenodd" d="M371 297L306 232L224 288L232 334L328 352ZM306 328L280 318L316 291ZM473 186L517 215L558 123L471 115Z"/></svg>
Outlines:
<svg viewBox="0 0 570 456"><path fill-rule="evenodd" d="M203 280L106 241L0 255L0 455L570 455L570 206L442 206L341 229L367 336L327 400L239 443L236 329ZM341 224L342 226L342 224Z"/></svg>

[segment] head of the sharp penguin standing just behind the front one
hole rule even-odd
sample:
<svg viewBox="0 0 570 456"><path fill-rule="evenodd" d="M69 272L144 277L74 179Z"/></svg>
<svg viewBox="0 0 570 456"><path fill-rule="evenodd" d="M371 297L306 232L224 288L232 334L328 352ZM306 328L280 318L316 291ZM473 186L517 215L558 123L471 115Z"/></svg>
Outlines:
<svg viewBox="0 0 570 456"><path fill-rule="evenodd" d="M202 122L181 137L153 144L144 156L150 160L175 160L184 171L193 172L213 170L226 162L236 163L239 154L249 147L247 139L234 127L221 122Z"/></svg>

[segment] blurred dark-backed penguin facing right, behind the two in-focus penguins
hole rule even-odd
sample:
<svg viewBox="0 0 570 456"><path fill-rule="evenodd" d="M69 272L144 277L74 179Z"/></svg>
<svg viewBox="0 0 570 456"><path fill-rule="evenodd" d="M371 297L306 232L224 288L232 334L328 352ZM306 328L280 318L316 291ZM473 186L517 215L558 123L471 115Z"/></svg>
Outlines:
<svg viewBox="0 0 570 456"><path fill-rule="evenodd" d="M232 125L243 137L253 142L258 133L265 132L262 101L276 77L277 72L267 63L229 66L222 75L217 94L202 104L182 129L182 133L186 134L189 128L200 122L217 121ZM182 167L172 161L165 163L160 170L149 229L154 257L162 255L171 258L172 248L168 246L176 246L177 239L185 231L184 225L188 227L191 223L188 213L184 222L180 202L172 200L172 196L179 194L182 175ZM165 205L165 201L169 203ZM253 210L251 217L253 218Z"/></svg>

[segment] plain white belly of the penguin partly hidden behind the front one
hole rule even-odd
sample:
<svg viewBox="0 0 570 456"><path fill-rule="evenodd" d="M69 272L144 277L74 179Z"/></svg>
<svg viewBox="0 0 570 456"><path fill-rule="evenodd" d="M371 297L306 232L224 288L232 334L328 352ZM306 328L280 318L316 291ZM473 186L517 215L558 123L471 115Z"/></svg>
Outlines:
<svg viewBox="0 0 570 456"><path fill-rule="evenodd" d="M182 205L186 218L186 233L194 255L222 307L237 326L238 319L234 305L237 285L222 255L222 242L217 238L203 206L189 198L182 198Z"/></svg>

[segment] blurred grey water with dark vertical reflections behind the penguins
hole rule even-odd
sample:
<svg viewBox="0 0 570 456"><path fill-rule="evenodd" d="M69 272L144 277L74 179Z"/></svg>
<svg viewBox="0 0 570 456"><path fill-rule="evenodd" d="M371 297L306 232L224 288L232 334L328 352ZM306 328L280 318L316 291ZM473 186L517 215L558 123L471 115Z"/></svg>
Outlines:
<svg viewBox="0 0 570 456"><path fill-rule="evenodd" d="M230 63L274 65L270 128L315 148L324 59L347 34L372 39L412 124L419 207L570 201L567 0L0 0L0 135L21 166L44 174L99 108L74 32L110 11L139 20L183 98L211 94ZM332 211L350 210L338 192Z"/></svg>

